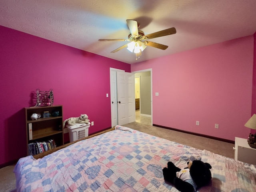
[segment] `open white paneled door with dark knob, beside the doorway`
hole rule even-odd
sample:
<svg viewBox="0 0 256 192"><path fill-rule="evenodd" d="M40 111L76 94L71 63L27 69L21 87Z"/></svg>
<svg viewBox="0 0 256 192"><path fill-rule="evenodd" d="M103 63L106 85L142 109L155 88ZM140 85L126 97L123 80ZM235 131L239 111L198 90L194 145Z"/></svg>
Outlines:
<svg viewBox="0 0 256 192"><path fill-rule="evenodd" d="M134 74L116 72L118 124L135 121Z"/></svg>

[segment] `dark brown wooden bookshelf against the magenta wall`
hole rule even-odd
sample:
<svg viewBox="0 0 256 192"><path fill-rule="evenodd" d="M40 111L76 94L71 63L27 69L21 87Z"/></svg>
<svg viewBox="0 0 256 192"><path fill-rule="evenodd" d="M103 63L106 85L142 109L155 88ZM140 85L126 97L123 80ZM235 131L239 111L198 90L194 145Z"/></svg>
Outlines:
<svg viewBox="0 0 256 192"><path fill-rule="evenodd" d="M42 118L44 112L52 114L55 111L59 112L57 117ZM41 117L37 120L31 120L30 116L33 114L40 114ZM31 144L38 142L48 142L54 140L56 146L62 146L64 144L63 139L63 117L62 106L42 106L42 107L29 107L25 108L26 114L26 144L27 154L30 154L29 147ZM49 149L48 149L49 150Z"/></svg>

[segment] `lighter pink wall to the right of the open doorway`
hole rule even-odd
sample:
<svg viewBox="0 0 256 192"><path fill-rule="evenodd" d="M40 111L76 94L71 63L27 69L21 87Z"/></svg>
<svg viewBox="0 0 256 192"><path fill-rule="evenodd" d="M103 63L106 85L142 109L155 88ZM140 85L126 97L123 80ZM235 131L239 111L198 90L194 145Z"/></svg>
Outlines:
<svg viewBox="0 0 256 192"><path fill-rule="evenodd" d="M247 36L131 65L131 71L152 68L153 124L233 141L247 138L253 50L254 37Z"/></svg>

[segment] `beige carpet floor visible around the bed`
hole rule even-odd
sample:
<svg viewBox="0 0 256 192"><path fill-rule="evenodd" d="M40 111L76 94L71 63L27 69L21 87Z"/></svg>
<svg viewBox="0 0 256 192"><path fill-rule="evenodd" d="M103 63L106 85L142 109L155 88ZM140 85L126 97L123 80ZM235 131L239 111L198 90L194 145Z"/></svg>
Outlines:
<svg viewBox="0 0 256 192"><path fill-rule="evenodd" d="M180 144L192 146L201 150L206 149L216 154L234 158L234 144L150 126L148 124L138 122L132 122L124 126L158 136L160 138L175 141ZM16 192L16 179L13 173L14 166L15 165L11 165L0 169L0 192Z"/></svg>

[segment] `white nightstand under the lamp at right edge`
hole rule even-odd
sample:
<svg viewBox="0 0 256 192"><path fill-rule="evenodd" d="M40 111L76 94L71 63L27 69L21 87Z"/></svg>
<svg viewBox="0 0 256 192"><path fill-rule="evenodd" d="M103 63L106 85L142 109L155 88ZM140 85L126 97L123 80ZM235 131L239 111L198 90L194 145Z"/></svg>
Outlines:
<svg viewBox="0 0 256 192"><path fill-rule="evenodd" d="M235 138L235 160L256 165L256 149L251 148L244 138Z"/></svg>

